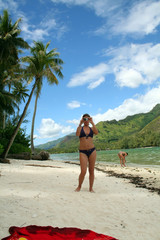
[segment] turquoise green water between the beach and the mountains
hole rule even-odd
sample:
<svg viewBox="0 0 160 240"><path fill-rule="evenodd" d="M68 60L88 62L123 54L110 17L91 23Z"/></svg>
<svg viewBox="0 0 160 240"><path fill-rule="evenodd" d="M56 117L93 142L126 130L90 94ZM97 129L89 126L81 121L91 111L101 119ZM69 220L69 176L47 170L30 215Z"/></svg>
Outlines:
<svg viewBox="0 0 160 240"><path fill-rule="evenodd" d="M122 149L123 151L123 149ZM160 147L136 148L124 150L128 152L126 157L129 165L154 165L160 166ZM109 164L119 164L117 156L119 150L97 151L97 161ZM79 153L51 154L51 159L61 161L79 161Z"/></svg>

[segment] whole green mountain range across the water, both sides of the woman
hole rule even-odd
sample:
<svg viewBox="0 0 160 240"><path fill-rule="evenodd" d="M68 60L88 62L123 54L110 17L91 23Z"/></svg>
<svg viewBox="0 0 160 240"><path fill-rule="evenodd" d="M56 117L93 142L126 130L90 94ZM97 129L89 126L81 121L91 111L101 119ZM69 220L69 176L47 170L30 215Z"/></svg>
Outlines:
<svg viewBox="0 0 160 240"><path fill-rule="evenodd" d="M127 116L123 120L99 122L99 134L94 136L97 150L160 146L160 104L150 112ZM155 142L155 139L157 141ZM52 144L51 144L52 143ZM49 144L49 145L47 145ZM46 144L50 153L78 151L79 138L75 133Z"/></svg>

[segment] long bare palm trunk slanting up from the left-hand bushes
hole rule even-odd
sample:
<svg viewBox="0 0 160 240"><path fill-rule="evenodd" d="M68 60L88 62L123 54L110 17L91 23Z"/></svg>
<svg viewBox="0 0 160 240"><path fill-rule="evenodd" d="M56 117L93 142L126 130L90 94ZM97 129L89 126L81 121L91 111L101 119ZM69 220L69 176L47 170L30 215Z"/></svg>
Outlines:
<svg viewBox="0 0 160 240"><path fill-rule="evenodd" d="M7 155L8 155L8 152L9 152L9 150L10 150L12 144L13 144L13 141L14 141L17 133L18 133L18 130L19 130L19 128L20 128L20 126L21 126L21 124L22 124L22 122L23 122L23 119L24 119L24 117L25 117L25 115L26 115L28 106L29 106L29 104L30 104L30 101L31 101L31 98L32 98L32 95L33 95L33 92L34 92L34 90L35 90L36 84L37 84L37 81L35 81L35 83L34 83L34 85L33 85L33 88L32 88L32 91L31 91L31 93L30 93L30 95L29 95L28 101L27 101L27 103L26 103L26 105L25 105L25 107L24 107L23 113L22 113L22 115L21 115L21 117L20 117L20 119L19 119L19 121L18 121L17 127L15 128L15 130L14 130L12 136L11 136L11 139L9 140L9 143L8 143L7 147L6 147L6 149L4 150L4 152L3 152L3 154L2 154L3 160L6 159L6 157L7 157Z"/></svg>

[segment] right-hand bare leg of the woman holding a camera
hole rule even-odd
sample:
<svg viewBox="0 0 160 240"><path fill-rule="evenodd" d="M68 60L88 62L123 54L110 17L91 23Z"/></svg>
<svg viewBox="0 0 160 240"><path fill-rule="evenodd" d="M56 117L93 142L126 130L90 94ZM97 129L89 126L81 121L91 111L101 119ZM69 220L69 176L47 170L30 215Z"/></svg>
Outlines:
<svg viewBox="0 0 160 240"><path fill-rule="evenodd" d="M96 162L96 150L94 150L89 156L89 191L93 191L93 183L94 183L94 167Z"/></svg>

